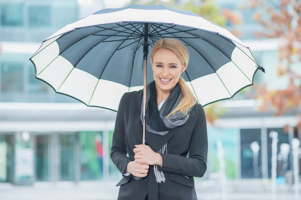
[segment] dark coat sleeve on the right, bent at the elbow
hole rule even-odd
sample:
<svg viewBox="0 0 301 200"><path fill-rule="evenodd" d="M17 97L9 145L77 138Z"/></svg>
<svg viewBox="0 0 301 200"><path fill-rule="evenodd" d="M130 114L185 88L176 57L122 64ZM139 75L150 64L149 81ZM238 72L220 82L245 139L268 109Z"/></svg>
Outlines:
<svg viewBox="0 0 301 200"><path fill-rule="evenodd" d="M208 152L207 124L204 108L199 105L198 109L198 119L192 133L189 157L160 153L163 163L158 170L193 177L202 177L205 174Z"/></svg>

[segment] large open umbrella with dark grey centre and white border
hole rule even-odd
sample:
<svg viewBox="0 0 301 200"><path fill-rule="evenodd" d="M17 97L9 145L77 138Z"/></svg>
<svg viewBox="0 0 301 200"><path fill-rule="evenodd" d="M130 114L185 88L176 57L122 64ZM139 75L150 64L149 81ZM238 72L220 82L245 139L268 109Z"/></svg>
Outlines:
<svg viewBox="0 0 301 200"><path fill-rule="evenodd" d="M36 77L56 92L117 110L124 92L143 88L143 47L147 82L154 80L145 50L165 37L186 45L190 61L182 76L203 106L231 98L253 84L258 69L264 72L228 30L162 4L100 10L45 39L30 60Z"/></svg>

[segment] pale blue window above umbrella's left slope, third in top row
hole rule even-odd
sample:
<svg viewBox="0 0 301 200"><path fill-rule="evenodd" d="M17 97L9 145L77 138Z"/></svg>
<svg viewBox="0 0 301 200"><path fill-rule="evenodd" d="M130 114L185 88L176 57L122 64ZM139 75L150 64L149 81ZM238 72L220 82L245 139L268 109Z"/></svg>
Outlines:
<svg viewBox="0 0 301 200"><path fill-rule="evenodd" d="M62 28L78 19L77 5L54 5L53 25L55 28Z"/></svg>

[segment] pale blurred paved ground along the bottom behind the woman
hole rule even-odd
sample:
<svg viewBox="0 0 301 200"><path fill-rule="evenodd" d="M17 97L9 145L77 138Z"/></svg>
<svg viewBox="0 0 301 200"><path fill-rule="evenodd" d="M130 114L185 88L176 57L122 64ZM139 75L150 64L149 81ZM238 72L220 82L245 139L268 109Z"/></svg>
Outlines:
<svg viewBox="0 0 301 200"><path fill-rule="evenodd" d="M0 184L0 200L115 200L118 188L115 182L39 183L33 186ZM196 182L199 200L271 200L269 182L228 182L226 198L221 197L217 182ZM300 189L301 194L301 189ZM277 200L297 200L291 186L277 187ZM133 199L135 200L135 199ZM298 199L299 200L299 199Z"/></svg>

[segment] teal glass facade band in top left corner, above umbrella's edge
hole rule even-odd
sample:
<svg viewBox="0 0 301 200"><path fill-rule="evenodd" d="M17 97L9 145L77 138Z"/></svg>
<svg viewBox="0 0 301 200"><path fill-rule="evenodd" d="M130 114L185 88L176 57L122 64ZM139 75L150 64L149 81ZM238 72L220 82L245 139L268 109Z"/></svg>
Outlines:
<svg viewBox="0 0 301 200"><path fill-rule="evenodd" d="M77 0L0 0L3 41L41 42L79 18Z"/></svg>

